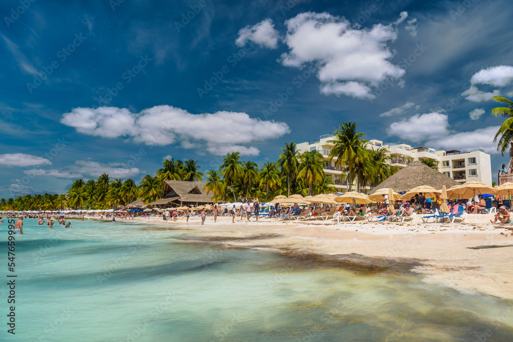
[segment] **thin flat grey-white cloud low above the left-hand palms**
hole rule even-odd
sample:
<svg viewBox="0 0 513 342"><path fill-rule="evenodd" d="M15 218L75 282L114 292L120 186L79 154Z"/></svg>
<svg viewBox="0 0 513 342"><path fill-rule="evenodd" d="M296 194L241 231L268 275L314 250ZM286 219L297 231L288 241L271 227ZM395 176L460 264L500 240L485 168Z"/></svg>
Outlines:
<svg viewBox="0 0 513 342"><path fill-rule="evenodd" d="M31 169L23 171L32 176L51 176L56 178L97 178L102 173L108 173L113 178L128 178L140 173L135 167L128 167L121 163L112 163L109 165L92 162L91 160L76 160L74 165L66 166L62 169L42 170Z"/></svg>

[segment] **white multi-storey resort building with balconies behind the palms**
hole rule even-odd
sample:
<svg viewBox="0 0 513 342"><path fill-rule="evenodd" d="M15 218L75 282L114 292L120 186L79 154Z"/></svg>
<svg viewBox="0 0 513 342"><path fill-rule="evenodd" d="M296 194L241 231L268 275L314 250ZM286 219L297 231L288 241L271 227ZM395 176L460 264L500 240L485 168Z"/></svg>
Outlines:
<svg viewBox="0 0 513 342"><path fill-rule="evenodd" d="M298 144L298 150L304 151L319 151L324 156L326 168L324 175L330 177L335 183L337 191L347 191L346 173L343 171L343 166L336 166L336 159L331 162L328 158L333 143L328 140L335 140L336 137L331 134L321 135L319 139L310 140L305 143ZM472 149L468 151L436 151L429 147L411 147L410 145L383 145L380 140L369 140L368 149L377 150L384 147L392 157L390 164L398 169L402 169L408 163L414 160L433 159L438 164L440 172L448 177L451 177L461 184L469 180L477 180L478 182L485 183L491 186L491 163L490 155L481 149ZM353 180L353 190L356 190L356 179ZM361 189L362 192L370 190L370 185L367 184Z"/></svg>

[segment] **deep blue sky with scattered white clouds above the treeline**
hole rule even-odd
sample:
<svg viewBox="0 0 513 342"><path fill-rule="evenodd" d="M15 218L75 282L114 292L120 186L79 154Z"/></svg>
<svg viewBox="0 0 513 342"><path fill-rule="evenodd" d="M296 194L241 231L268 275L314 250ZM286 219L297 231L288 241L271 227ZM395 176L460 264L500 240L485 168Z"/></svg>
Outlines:
<svg viewBox="0 0 513 342"><path fill-rule="evenodd" d="M494 153L508 5L4 1L0 197L139 181L166 156L262 165L349 120L385 143Z"/></svg>

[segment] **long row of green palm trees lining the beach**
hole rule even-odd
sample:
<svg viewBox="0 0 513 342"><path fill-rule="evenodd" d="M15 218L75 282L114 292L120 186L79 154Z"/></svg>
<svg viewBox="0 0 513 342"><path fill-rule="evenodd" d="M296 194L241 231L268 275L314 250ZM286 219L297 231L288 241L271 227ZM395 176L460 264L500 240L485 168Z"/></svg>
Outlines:
<svg viewBox="0 0 513 342"><path fill-rule="evenodd" d="M334 147L328 158L344 168L349 191L353 180L357 189L363 184L378 185L396 171L388 162L391 159L385 148L369 149L364 134L357 131L357 124L343 123L330 140ZM300 153L293 141L285 144L277 162L258 164L241 160L239 152L227 153L218 170L206 172L203 190L215 202L259 198L269 200L276 195L315 195L334 192L333 180L326 177L326 163L319 151ZM56 208L105 209L116 208L142 198L153 202L162 195L163 180L202 180L197 160L164 160L156 175L146 175L139 185L133 179L111 179L104 173L96 180L77 179L63 195L26 195L15 199L0 200L0 210L48 210Z"/></svg>

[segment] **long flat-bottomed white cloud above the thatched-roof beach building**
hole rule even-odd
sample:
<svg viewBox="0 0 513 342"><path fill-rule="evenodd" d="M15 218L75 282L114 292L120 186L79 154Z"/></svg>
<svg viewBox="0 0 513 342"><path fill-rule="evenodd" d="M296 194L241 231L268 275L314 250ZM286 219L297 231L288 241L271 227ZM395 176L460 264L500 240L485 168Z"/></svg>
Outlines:
<svg viewBox="0 0 513 342"><path fill-rule="evenodd" d="M172 106L155 106L140 113L116 107L75 108L63 115L61 123L80 133L126 137L146 145L182 143L183 148L194 148L206 144L209 151L235 146L242 155L255 155L258 149L239 144L277 138L290 132L285 123L251 118L246 113L191 114ZM251 154L245 154L248 152Z"/></svg>

